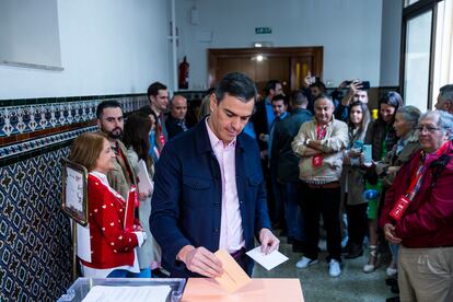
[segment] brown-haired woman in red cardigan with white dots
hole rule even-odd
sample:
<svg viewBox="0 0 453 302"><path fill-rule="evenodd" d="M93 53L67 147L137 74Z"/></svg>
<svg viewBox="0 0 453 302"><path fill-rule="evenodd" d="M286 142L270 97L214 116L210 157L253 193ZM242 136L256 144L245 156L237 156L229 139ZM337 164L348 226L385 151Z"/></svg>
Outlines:
<svg viewBox="0 0 453 302"><path fill-rule="evenodd" d="M135 247L143 244L146 233L137 225L135 231L124 229L126 201L107 182L115 153L106 137L83 133L71 147L70 161L89 171L89 230L91 260L81 259L84 277L127 277L139 272Z"/></svg>

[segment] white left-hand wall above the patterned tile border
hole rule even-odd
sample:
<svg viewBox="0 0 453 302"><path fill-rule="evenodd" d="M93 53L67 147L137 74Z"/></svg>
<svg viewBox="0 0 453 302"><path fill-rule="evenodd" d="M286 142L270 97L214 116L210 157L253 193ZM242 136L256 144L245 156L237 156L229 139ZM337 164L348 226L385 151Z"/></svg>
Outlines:
<svg viewBox="0 0 453 302"><path fill-rule="evenodd" d="M169 82L166 0L58 0L63 71L0 66L0 100L143 93Z"/></svg>

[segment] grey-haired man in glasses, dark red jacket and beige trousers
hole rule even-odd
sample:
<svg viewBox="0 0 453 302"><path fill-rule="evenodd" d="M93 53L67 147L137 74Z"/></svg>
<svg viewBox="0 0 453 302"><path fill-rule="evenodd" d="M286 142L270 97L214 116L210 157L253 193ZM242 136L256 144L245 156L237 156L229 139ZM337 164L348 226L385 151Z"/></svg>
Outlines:
<svg viewBox="0 0 453 302"><path fill-rule="evenodd" d="M387 190L380 226L400 243L400 301L453 301L453 115L428 112L417 129L422 150Z"/></svg>

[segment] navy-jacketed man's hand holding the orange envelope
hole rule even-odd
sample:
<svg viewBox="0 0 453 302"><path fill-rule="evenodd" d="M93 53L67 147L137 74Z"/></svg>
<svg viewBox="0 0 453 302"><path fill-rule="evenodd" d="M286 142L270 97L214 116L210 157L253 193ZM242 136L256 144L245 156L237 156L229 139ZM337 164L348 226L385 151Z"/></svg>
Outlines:
<svg viewBox="0 0 453 302"><path fill-rule="evenodd" d="M188 270L199 275L216 278L223 274L219 258L202 246L186 245L179 251L177 258L186 264Z"/></svg>

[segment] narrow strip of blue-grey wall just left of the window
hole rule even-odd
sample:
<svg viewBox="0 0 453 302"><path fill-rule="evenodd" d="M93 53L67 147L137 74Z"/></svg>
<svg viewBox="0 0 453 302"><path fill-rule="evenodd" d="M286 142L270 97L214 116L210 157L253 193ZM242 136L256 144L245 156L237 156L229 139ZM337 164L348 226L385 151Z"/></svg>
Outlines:
<svg viewBox="0 0 453 302"><path fill-rule="evenodd" d="M399 85L403 0L383 0L381 86Z"/></svg>

